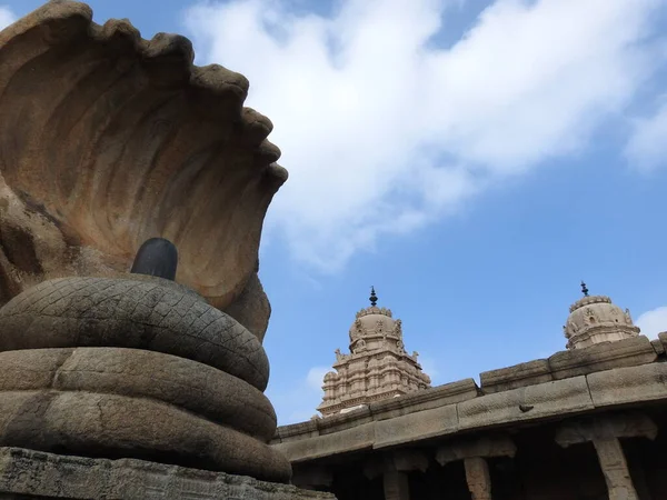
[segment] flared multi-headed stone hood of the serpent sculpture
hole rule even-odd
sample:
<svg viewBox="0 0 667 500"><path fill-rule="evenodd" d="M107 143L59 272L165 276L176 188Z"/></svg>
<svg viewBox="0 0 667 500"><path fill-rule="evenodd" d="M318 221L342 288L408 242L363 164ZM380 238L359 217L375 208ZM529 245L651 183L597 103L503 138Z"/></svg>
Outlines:
<svg viewBox="0 0 667 500"><path fill-rule="evenodd" d="M149 238L177 280L260 339L266 210L287 179L248 80L52 0L0 32L0 304L44 279L122 274Z"/></svg>

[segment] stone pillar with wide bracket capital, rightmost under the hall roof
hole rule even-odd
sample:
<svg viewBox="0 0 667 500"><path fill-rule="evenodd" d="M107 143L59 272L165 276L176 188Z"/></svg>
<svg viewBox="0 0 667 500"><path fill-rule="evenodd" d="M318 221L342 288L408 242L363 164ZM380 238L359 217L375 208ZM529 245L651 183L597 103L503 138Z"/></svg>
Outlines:
<svg viewBox="0 0 667 500"><path fill-rule="evenodd" d="M638 500L618 439L639 437L653 440L657 433L658 428L647 416L617 413L568 422L556 434L556 442L563 448L591 442L605 476L609 500Z"/></svg>

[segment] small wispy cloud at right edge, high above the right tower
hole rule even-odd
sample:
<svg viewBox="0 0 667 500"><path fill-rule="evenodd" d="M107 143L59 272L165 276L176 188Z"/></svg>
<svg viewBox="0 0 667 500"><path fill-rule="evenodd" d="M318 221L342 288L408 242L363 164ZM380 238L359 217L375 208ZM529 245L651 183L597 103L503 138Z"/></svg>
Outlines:
<svg viewBox="0 0 667 500"><path fill-rule="evenodd" d="M626 156L630 166L644 171L667 166L667 98L655 114L635 121Z"/></svg>

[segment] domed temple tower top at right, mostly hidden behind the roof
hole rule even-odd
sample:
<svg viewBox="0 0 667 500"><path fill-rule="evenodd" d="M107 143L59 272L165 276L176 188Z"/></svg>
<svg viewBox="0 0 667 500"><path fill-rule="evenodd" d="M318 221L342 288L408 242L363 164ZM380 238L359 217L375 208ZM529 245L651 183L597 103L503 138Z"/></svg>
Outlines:
<svg viewBox="0 0 667 500"><path fill-rule="evenodd" d="M567 349L583 349L639 334L628 309L621 310L608 297L589 296L584 281L581 291L584 297L570 306L570 314L563 327Z"/></svg>

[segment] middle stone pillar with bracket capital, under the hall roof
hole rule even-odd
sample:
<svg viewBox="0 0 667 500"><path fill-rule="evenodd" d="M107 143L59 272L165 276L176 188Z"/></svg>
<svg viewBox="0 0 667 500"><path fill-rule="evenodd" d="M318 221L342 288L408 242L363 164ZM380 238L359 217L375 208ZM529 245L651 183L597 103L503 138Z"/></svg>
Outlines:
<svg viewBox="0 0 667 500"><path fill-rule="evenodd" d="M488 457L514 457L516 452L517 448L509 437L495 434L452 441L438 448L436 460L440 466L462 460L472 500L491 500L491 477L486 459Z"/></svg>

